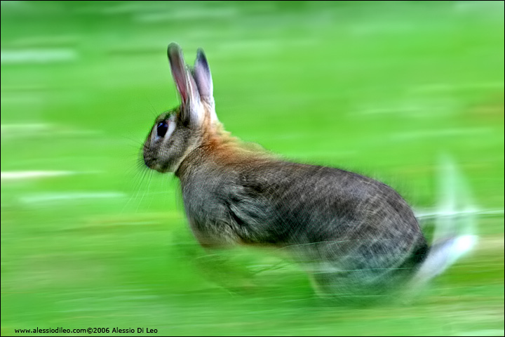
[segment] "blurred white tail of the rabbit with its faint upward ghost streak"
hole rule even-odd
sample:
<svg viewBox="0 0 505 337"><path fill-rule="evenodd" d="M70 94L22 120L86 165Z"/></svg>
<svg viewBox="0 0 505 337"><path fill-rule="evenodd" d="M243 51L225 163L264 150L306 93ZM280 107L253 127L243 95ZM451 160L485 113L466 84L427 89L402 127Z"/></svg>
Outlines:
<svg viewBox="0 0 505 337"><path fill-rule="evenodd" d="M436 218L433 244L412 279L411 289L444 272L477 242L476 207L468 185L448 157L441 161L439 180L438 211L420 216Z"/></svg>

